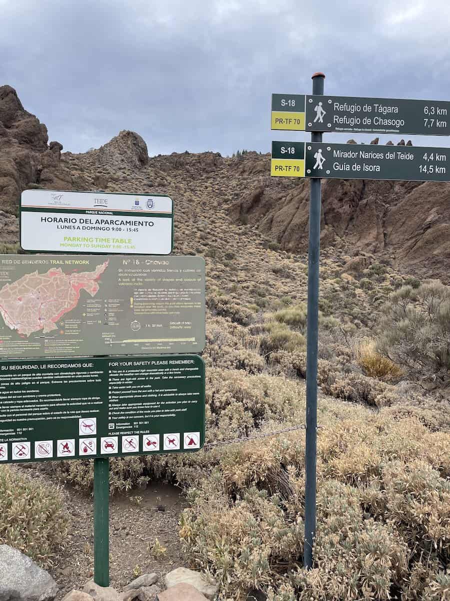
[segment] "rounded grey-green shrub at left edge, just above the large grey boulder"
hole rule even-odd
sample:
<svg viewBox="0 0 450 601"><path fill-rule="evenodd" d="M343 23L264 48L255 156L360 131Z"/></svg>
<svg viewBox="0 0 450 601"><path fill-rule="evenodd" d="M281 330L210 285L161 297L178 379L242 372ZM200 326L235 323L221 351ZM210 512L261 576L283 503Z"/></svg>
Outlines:
<svg viewBox="0 0 450 601"><path fill-rule="evenodd" d="M54 486L0 466L0 544L10 545L43 566L67 538L68 514Z"/></svg>

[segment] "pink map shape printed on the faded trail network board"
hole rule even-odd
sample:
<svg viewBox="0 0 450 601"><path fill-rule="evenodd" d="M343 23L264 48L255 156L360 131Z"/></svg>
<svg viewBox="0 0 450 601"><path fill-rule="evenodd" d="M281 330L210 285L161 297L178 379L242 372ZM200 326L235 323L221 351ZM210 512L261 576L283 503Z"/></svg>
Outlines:
<svg viewBox="0 0 450 601"><path fill-rule="evenodd" d="M95 296L100 289L98 279L109 261L92 272L64 273L61 267L47 273L27 273L0 290L0 313L5 324L18 334L44 334L58 328L56 322L73 310L80 300L80 290Z"/></svg>

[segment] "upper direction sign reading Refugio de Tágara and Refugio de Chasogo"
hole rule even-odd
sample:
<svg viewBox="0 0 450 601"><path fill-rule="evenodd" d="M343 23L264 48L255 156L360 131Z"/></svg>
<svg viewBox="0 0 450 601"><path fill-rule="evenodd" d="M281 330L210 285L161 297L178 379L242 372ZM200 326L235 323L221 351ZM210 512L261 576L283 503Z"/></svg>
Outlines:
<svg viewBox="0 0 450 601"><path fill-rule="evenodd" d="M272 94L271 129L450 135L450 102Z"/></svg>

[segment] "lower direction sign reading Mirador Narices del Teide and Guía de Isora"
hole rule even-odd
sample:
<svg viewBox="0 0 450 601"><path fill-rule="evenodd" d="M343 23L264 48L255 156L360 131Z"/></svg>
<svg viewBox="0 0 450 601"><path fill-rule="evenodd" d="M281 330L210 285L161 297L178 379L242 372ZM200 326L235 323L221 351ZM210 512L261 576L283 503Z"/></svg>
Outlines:
<svg viewBox="0 0 450 601"><path fill-rule="evenodd" d="M286 158L280 161L280 154ZM299 168L301 154L304 175ZM271 175L449 182L450 148L272 142Z"/></svg>

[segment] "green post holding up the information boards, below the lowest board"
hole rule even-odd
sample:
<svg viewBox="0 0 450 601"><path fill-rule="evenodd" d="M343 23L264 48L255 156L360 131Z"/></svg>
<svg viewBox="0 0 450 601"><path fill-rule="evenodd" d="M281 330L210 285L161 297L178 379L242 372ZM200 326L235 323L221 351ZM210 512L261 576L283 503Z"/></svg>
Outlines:
<svg viewBox="0 0 450 601"><path fill-rule="evenodd" d="M94 459L94 582L109 587L109 459Z"/></svg>

